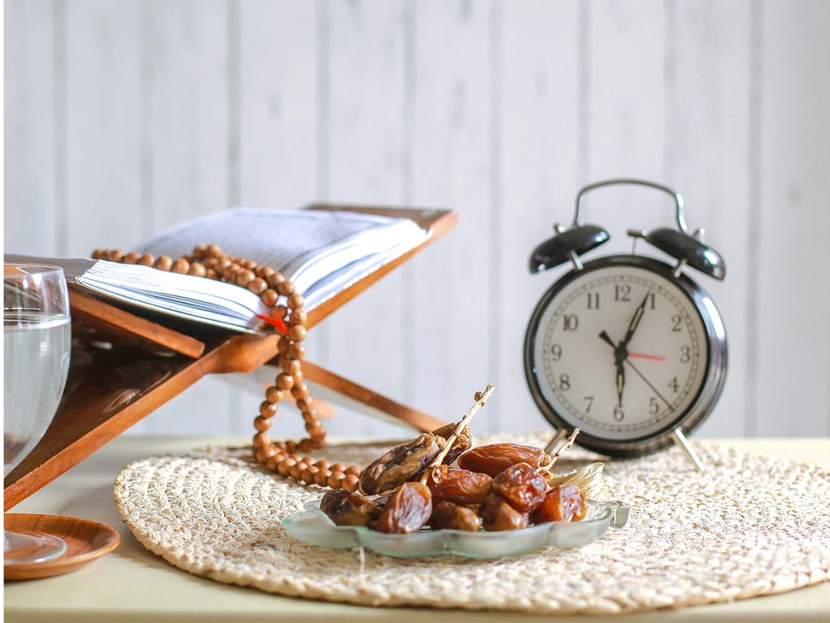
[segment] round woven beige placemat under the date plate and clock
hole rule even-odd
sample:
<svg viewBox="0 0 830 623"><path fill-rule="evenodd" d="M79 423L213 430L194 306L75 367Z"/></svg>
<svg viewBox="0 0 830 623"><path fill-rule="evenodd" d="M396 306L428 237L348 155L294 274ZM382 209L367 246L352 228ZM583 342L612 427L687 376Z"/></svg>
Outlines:
<svg viewBox="0 0 830 623"><path fill-rule="evenodd" d="M546 441L541 434L510 439ZM368 464L390 445L333 446L326 458ZM632 504L627 526L585 547L495 561L402 559L298 542L281 518L325 490L266 473L247 448L139 461L120 473L114 493L139 542L174 566L327 601L627 613L769 595L830 578L830 473L711 444L695 448L705 473L693 471L677 449L606 464L613 498ZM569 451L571 465L588 458Z"/></svg>

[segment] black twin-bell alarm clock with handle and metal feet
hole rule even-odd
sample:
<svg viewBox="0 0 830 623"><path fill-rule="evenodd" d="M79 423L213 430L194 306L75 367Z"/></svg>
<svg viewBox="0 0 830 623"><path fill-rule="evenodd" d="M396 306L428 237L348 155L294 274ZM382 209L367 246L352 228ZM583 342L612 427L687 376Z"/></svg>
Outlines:
<svg viewBox="0 0 830 623"><path fill-rule="evenodd" d="M583 262L610 239L579 222L593 189L637 184L670 194L675 228L628 230L632 253ZM641 179L590 184L576 198L574 222L530 255L530 272L564 263L571 270L536 305L525 334L525 376L536 405L558 429L553 448L579 427L577 443L609 457L636 457L680 444L702 469L686 436L708 415L726 378L726 333L709 295L688 269L722 280L720 253L689 233L681 194ZM673 258L636 254L644 240Z"/></svg>

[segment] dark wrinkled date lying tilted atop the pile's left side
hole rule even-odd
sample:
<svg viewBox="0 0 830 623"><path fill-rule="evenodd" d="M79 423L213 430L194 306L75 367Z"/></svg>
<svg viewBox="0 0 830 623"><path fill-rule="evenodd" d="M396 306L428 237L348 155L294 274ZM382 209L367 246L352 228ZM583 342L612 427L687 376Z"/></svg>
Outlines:
<svg viewBox="0 0 830 623"><path fill-rule="evenodd" d="M423 433L396 445L360 473L360 487L369 495L393 489L423 473L446 444L442 437Z"/></svg>

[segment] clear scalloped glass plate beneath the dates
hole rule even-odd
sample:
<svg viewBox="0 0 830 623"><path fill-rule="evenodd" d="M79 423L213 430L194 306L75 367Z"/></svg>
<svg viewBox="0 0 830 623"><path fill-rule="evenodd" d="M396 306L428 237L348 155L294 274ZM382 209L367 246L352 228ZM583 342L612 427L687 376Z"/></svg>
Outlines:
<svg viewBox="0 0 830 623"><path fill-rule="evenodd" d="M282 520L292 537L320 547L369 549L400 558L457 554L470 558L519 556L542 547L581 547L602 537L608 527L623 527L630 507L621 502L588 500L581 522L549 522L510 532L465 532L424 529L412 534L384 534L366 527L335 526L320 510L320 500Z"/></svg>

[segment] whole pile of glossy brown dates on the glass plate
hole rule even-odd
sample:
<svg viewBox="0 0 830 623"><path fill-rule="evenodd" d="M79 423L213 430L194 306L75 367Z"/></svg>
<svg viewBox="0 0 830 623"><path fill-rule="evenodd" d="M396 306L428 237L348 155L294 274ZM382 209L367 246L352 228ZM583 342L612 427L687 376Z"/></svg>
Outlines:
<svg viewBox="0 0 830 623"><path fill-rule="evenodd" d="M434 465L455 426L448 424L390 449L361 473L360 493L334 489L325 494L320 510L338 526L391 534L425 526L519 530L585 516L585 495L579 488L551 487L537 471L553 461L539 448L491 444L471 449L470 431L464 429L442 464ZM456 461L457 467L451 467Z"/></svg>

